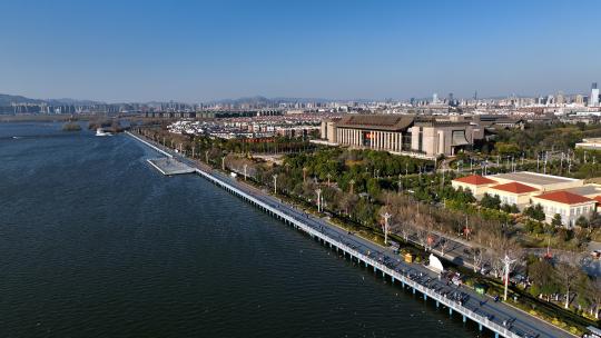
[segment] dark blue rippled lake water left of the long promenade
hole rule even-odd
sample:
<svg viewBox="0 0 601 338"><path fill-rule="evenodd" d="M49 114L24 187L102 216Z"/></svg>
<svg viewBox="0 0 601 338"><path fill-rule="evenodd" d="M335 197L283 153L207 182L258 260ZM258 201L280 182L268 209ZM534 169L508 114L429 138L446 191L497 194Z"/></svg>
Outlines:
<svg viewBox="0 0 601 338"><path fill-rule="evenodd" d="M125 135L60 129L0 123L0 337L479 334Z"/></svg>

